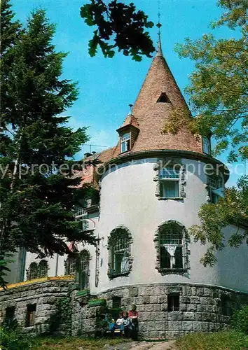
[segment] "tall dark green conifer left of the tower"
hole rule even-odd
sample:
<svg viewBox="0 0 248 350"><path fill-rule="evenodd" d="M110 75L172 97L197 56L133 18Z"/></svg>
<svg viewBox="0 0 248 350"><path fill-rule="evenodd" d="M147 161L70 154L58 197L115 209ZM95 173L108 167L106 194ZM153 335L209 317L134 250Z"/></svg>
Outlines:
<svg viewBox="0 0 248 350"><path fill-rule="evenodd" d="M73 175L74 154L88 140L61 116L77 98L76 83L60 78L67 56L56 52L55 25L44 10L32 13L20 32L8 1L2 15L6 47L1 95L0 283L5 285L8 254L18 247L43 257L68 253L66 241L94 242L74 221L73 209L86 195ZM6 18L8 16L8 18ZM8 56L8 57L7 57ZM8 59L11 56L11 66Z"/></svg>

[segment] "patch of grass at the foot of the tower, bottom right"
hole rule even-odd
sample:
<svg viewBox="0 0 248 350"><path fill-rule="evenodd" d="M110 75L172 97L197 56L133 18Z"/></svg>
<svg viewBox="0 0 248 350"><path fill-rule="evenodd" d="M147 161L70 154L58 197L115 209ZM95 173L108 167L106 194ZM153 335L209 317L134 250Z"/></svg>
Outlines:
<svg viewBox="0 0 248 350"><path fill-rule="evenodd" d="M216 333L194 333L176 340L178 350L244 350L248 335L235 330Z"/></svg>

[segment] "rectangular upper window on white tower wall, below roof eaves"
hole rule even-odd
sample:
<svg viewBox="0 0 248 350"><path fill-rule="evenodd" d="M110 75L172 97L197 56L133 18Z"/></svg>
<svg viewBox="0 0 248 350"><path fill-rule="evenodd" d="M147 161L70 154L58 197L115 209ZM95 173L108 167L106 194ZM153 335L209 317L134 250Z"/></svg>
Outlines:
<svg viewBox="0 0 248 350"><path fill-rule="evenodd" d="M160 169L160 197L179 197L179 167L164 167Z"/></svg>

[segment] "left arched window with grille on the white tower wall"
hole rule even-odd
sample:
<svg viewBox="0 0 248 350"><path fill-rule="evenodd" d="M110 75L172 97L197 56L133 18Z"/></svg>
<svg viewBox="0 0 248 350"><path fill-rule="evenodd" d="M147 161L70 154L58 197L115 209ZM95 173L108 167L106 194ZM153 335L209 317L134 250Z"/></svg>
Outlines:
<svg viewBox="0 0 248 350"><path fill-rule="evenodd" d="M132 267L130 244L132 236L126 228L114 229L109 237L109 278L126 276Z"/></svg>

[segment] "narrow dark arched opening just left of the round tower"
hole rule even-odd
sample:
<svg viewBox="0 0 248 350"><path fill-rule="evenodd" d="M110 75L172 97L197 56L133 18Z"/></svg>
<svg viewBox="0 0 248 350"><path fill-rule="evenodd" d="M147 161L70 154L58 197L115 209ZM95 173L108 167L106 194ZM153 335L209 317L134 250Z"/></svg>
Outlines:
<svg viewBox="0 0 248 350"><path fill-rule="evenodd" d="M76 257L76 281L81 289L89 287L90 253L86 250L78 253Z"/></svg>

